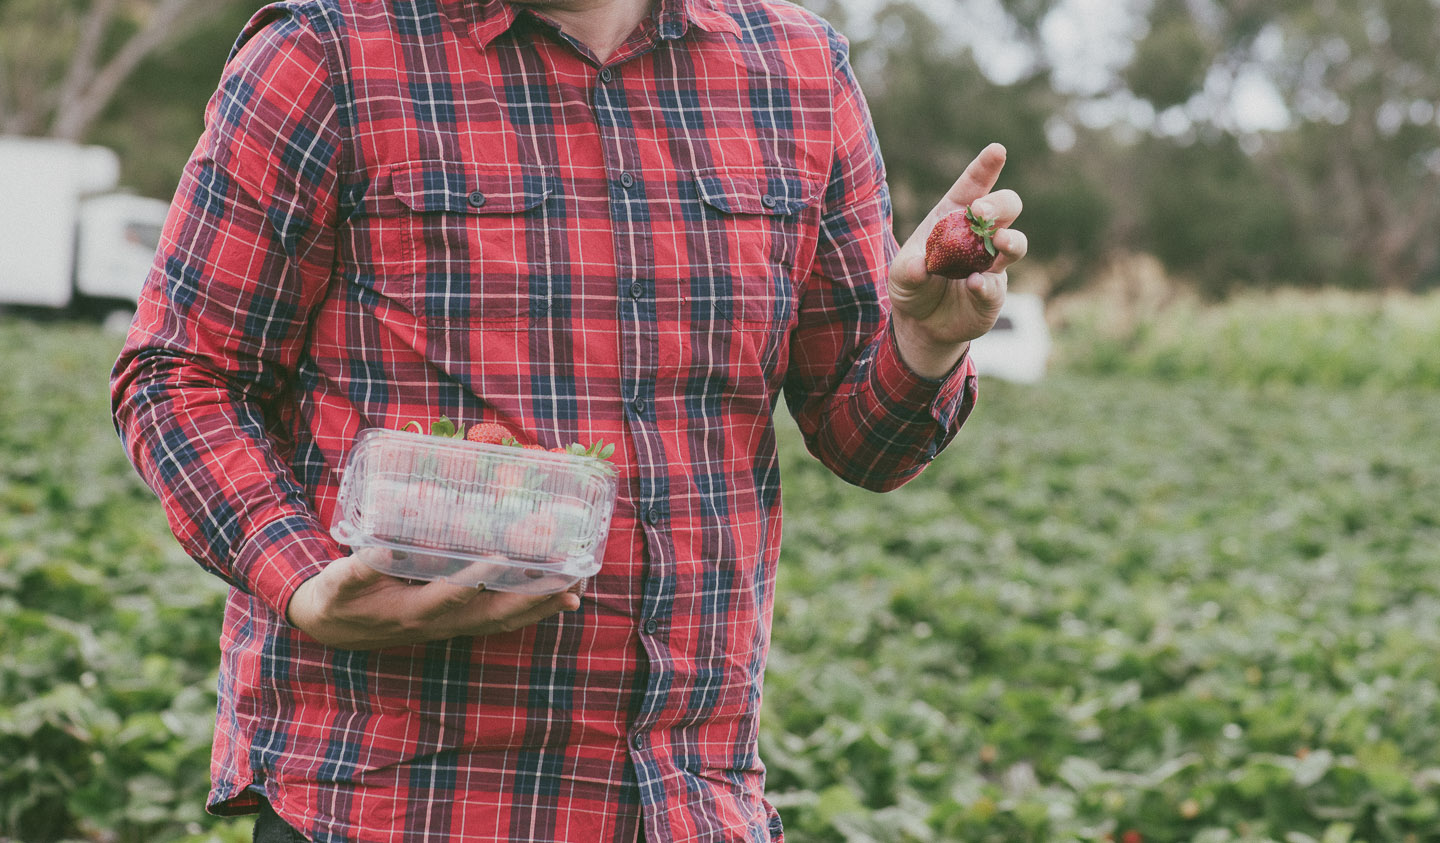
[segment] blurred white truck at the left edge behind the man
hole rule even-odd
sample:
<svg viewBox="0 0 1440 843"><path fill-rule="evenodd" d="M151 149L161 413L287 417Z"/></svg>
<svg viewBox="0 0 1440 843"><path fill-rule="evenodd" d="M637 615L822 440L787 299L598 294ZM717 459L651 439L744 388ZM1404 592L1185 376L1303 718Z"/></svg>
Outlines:
<svg viewBox="0 0 1440 843"><path fill-rule="evenodd" d="M0 308L134 311L168 203L118 184L107 147L0 137Z"/></svg>

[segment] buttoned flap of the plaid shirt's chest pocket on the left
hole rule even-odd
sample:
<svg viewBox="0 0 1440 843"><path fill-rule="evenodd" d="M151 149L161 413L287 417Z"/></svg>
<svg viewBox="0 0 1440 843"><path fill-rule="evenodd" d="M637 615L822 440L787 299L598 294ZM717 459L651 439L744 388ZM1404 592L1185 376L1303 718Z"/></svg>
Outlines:
<svg viewBox="0 0 1440 843"><path fill-rule="evenodd" d="M518 213L550 196L536 164L416 161L393 173L395 195L409 209L452 213Z"/></svg>

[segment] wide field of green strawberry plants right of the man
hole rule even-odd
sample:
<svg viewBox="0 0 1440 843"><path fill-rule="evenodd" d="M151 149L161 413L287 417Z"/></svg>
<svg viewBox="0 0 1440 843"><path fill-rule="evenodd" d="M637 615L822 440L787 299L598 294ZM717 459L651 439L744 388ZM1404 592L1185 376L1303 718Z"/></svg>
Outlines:
<svg viewBox="0 0 1440 843"><path fill-rule="evenodd" d="M887 499L788 464L788 839L1433 839L1433 405L1061 373Z"/></svg>

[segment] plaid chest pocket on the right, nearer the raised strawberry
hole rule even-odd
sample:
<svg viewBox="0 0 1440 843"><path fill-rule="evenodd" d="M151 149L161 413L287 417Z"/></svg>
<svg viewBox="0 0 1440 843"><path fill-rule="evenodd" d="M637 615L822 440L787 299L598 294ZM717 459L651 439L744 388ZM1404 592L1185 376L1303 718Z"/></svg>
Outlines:
<svg viewBox="0 0 1440 843"><path fill-rule="evenodd" d="M687 226L693 318L714 317L746 330L791 321L795 290L818 232L821 184L793 170L701 170Z"/></svg>

